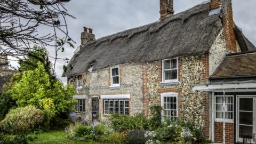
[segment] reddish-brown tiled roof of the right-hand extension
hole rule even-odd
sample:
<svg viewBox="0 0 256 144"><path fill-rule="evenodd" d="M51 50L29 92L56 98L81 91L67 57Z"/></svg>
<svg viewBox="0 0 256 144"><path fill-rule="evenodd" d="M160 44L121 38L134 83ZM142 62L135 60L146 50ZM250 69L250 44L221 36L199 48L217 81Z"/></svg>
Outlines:
<svg viewBox="0 0 256 144"><path fill-rule="evenodd" d="M256 51L228 54L211 78L256 76Z"/></svg>

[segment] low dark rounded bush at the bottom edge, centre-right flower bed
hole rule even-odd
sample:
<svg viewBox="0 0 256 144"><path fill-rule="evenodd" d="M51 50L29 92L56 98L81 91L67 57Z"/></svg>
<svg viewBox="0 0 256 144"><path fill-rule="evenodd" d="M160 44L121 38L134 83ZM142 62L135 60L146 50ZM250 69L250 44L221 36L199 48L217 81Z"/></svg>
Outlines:
<svg viewBox="0 0 256 144"><path fill-rule="evenodd" d="M145 131L133 130L127 133L126 141L129 144L144 144L147 141L145 137Z"/></svg>

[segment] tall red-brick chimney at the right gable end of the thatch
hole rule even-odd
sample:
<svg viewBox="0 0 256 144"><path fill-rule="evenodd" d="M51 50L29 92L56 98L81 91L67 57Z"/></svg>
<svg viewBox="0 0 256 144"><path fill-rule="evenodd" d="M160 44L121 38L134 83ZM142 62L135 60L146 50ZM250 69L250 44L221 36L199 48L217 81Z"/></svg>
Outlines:
<svg viewBox="0 0 256 144"><path fill-rule="evenodd" d="M237 52L231 0L211 0L210 6L211 10L221 9L223 34L225 36L227 50Z"/></svg>

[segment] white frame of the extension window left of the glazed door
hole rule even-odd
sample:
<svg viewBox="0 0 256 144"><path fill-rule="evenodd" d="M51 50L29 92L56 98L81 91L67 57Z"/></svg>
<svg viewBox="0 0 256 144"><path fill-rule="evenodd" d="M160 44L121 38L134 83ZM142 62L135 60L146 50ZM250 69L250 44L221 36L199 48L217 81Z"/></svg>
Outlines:
<svg viewBox="0 0 256 144"><path fill-rule="evenodd" d="M216 118L216 98L217 97L223 97L223 95L215 95L215 97L214 97L214 122L223 122L223 118ZM225 97L227 98L227 97L232 97L232 100L233 100L233 103L232 103L232 105L233 105L233 118L232 119L227 119L227 118L225 118L225 122L227 122L227 123L234 123L234 95L225 95ZM226 107L225 107L226 108ZM227 111L227 108L225 109L226 111ZM218 110L219 111L219 110ZM223 106L221 107L221 112L223 111ZM224 113L225 111L223 111L223 114L225 114ZM230 112L230 111L228 111L228 112Z"/></svg>

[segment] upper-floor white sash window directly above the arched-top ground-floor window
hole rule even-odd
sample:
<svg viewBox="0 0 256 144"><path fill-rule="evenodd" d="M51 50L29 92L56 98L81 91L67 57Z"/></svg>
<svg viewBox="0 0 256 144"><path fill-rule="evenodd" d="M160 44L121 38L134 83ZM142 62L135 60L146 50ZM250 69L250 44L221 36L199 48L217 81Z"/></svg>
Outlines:
<svg viewBox="0 0 256 144"><path fill-rule="evenodd" d="M178 82L178 59L163 60L162 82Z"/></svg>

